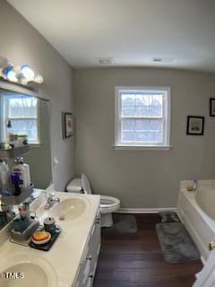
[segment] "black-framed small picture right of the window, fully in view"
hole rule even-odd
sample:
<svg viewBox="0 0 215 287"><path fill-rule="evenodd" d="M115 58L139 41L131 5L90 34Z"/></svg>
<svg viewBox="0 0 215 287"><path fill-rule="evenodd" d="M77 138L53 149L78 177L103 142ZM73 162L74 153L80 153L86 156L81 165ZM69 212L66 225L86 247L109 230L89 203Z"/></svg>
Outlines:
<svg viewBox="0 0 215 287"><path fill-rule="evenodd" d="M187 116L186 135L203 135L204 117Z"/></svg>

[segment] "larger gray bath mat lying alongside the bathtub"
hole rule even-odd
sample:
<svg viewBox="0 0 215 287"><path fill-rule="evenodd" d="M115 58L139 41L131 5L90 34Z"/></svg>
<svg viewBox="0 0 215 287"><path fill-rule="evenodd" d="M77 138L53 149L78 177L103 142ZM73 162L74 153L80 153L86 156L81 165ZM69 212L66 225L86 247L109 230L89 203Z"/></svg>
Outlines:
<svg viewBox="0 0 215 287"><path fill-rule="evenodd" d="M198 249L181 222L158 223L156 230L168 263L186 263L200 258Z"/></svg>

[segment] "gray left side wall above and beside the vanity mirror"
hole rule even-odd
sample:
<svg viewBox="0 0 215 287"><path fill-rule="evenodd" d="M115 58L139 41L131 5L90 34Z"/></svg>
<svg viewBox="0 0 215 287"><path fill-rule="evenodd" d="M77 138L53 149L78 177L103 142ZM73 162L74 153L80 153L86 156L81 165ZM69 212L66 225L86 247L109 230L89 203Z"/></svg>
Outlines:
<svg viewBox="0 0 215 287"><path fill-rule="evenodd" d="M62 139L62 111L73 112L73 70L37 30L10 4L0 0L0 55L15 65L28 64L43 75L40 93L51 101L51 154L59 160L53 170L56 188L64 188L74 167L73 138ZM40 173L46 172L41 166Z"/></svg>

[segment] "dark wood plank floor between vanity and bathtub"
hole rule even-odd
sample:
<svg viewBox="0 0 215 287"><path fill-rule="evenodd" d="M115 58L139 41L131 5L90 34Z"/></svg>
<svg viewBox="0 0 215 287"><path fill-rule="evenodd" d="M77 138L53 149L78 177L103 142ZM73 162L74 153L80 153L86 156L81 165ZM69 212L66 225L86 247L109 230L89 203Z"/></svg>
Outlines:
<svg viewBox="0 0 215 287"><path fill-rule="evenodd" d="M201 261L170 265L164 260L155 224L157 214L135 215L135 234L102 230L99 263L93 287L191 287Z"/></svg>

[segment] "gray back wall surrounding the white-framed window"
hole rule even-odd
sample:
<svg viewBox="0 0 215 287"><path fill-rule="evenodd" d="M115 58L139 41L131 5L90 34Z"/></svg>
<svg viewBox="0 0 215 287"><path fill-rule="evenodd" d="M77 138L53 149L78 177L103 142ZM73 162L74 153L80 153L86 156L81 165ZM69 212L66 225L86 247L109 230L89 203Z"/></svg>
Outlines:
<svg viewBox="0 0 215 287"><path fill-rule="evenodd" d="M170 86L169 151L116 151L115 86ZM122 207L174 207L179 182L215 176L215 75L168 69L107 68L74 73L77 122L76 173L94 193L120 198ZM204 136L185 135L186 116L205 116Z"/></svg>

